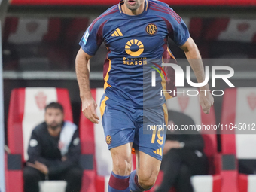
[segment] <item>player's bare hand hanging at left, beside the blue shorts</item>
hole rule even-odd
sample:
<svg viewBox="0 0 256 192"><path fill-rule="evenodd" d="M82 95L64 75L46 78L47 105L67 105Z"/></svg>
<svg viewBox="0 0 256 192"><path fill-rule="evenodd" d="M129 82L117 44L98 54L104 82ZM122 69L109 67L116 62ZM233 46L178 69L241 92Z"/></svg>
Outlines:
<svg viewBox="0 0 256 192"><path fill-rule="evenodd" d="M96 114L97 104L92 97L82 99L82 111L85 117L93 123L99 123L99 117Z"/></svg>

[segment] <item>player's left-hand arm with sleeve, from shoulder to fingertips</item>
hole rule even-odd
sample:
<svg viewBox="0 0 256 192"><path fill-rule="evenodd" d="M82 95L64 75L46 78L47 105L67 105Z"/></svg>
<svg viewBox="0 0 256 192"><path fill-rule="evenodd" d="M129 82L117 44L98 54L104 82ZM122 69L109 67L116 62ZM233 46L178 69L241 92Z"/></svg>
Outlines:
<svg viewBox="0 0 256 192"><path fill-rule="evenodd" d="M101 16L93 20L93 23L84 32L84 36L79 42L81 49L78 51L75 59L75 71L82 100L82 111L84 116L93 123L99 123L99 117L95 111L97 104L90 93L89 63L90 58L96 54L104 39L103 28L108 19L105 17L108 15L107 12L105 11Z"/></svg>

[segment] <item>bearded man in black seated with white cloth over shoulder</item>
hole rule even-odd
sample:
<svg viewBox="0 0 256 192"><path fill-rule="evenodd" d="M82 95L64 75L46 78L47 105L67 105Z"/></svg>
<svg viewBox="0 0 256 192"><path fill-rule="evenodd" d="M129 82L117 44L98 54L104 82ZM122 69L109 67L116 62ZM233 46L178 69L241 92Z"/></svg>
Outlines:
<svg viewBox="0 0 256 192"><path fill-rule="evenodd" d="M23 171L24 191L39 192L43 180L67 181L66 192L81 189L83 170L78 128L64 121L62 105L51 102L45 107L45 122L32 131L29 140L29 160Z"/></svg>

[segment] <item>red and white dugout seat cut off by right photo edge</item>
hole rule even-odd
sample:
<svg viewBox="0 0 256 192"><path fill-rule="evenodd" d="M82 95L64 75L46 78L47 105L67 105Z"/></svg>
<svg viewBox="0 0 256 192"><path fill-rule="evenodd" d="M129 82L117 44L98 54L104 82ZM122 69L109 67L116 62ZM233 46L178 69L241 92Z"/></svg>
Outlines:
<svg viewBox="0 0 256 192"><path fill-rule="evenodd" d="M253 129L255 117L256 87L230 88L224 91L221 114L221 124L224 126L221 130L223 192L256 191L256 175L239 174L237 169L238 160L256 160L256 135L254 130L248 130L249 125ZM237 128L233 129L234 126Z"/></svg>

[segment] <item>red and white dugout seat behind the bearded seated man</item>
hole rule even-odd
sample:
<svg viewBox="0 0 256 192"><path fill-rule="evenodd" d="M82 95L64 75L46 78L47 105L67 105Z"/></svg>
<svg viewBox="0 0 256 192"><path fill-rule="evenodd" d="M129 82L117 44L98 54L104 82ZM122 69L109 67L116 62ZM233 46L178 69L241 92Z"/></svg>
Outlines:
<svg viewBox="0 0 256 192"><path fill-rule="evenodd" d="M11 92L8 111L8 147L6 157L6 191L23 191L23 164L28 159L27 147L33 128L44 121L44 107L50 102L63 105L65 120L73 121L69 92L61 88L18 88ZM40 182L40 192L51 192L66 181ZM58 190L61 192L61 190ZM64 190L63 190L64 191Z"/></svg>

